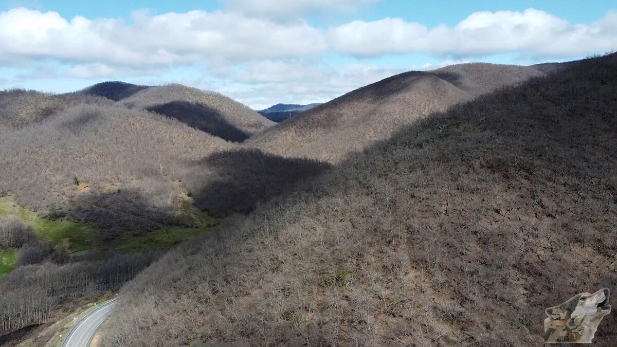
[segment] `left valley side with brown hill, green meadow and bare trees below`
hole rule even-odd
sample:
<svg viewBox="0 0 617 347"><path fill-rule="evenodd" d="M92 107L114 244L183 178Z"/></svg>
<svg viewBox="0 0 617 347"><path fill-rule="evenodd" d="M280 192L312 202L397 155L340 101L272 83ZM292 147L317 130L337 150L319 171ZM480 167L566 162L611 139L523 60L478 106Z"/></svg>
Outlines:
<svg viewBox="0 0 617 347"><path fill-rule="evenodd" d="M216 217L250 212L329 167L76 95L102 102L0 133L0 345L115 293ZM37 338L31 345L49 340Z"/></svg>

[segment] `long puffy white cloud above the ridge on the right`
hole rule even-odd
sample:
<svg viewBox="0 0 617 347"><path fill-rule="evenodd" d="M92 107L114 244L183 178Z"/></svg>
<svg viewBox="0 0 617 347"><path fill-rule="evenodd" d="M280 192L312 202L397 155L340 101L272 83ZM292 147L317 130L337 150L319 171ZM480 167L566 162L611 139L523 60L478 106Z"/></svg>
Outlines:
<svg viewBox="0 0 617 347"><path fill-rule="evenodd" d="M560 57L617 48L617 11L590 25L572 24L547 12L476 12L455 27L429 29L421 23L386 18L356 20L328 30L331 46L355 56L427 52L455 57L515 52Z"/></svg>

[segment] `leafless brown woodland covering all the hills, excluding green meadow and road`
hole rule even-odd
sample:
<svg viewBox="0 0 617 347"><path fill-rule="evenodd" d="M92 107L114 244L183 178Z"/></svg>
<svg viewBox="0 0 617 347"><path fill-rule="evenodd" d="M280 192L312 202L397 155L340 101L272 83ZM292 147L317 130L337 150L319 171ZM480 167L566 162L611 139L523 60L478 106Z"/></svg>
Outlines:
<svg viewBox="0 0 617 347"><path fill-rule="evenodd" d="M120 290L103 345L534 344L617 285L615 107L615 54L408 72L275 126L181 85L0 92L0 196L104 241L225 219L163 256L0 218L0 335Z"/></svg>

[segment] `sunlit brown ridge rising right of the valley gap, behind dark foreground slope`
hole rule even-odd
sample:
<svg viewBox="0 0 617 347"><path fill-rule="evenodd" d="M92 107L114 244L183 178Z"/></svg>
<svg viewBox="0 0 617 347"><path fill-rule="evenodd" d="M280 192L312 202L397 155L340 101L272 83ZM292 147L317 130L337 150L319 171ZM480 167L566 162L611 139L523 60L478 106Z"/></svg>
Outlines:
<svg viewBox="0 0 617 347"><path fill-rule="evenodd" d="M283 156L340 162L422 115L539 75L544 72L533 67L482 63L405 72L295 115L248 144Z"/></svg>

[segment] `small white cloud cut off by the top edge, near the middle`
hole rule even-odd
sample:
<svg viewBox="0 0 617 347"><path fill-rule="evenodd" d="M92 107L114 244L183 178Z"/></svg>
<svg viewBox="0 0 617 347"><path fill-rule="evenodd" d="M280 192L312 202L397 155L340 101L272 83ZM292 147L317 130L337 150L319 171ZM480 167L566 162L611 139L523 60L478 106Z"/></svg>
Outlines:
<svg viewBox="0 0 617 347"><path fill-rule="evenodd" d="M307 12L349 11L381 0L222 0L231 10L284 19Z"/></svg>

